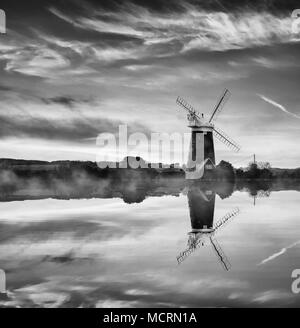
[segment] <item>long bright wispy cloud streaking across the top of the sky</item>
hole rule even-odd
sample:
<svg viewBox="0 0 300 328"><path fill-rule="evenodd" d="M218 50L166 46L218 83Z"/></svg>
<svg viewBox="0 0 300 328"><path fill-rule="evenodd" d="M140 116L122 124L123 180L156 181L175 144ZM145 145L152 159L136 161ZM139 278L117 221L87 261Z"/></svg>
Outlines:
<svg viewBox="0 0 300 328"><path fill-rule="evenodd" d="M68 16L49 9L58 18L85 30L118 34L143 40L140 45L174 44L174 51L226 51L291 41L292 18L267 12L230 13L208 11L182 5L181 12L157 15L149 9L127 5L118 11L95 11L84 16ZM109 18L109 19L108 19Z"/></svg>

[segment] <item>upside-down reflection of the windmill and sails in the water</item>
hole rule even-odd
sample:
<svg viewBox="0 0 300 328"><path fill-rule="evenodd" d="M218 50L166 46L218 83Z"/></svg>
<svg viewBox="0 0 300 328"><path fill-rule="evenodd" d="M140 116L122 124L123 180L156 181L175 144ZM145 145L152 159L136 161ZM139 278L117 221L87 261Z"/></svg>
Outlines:
<svg viewBox="0 0 300 328"><path fill-rule="evenodd" d="M211 244L222 267L228 271L229 260L218 244L216 234L220 228L239 213L235 208L214 223L216 193L211 188L193 184L187 191L192 231L188 233L187 249L177 256L178 264L186 260L197 248Z"/></svg>

